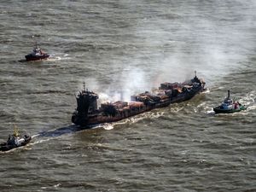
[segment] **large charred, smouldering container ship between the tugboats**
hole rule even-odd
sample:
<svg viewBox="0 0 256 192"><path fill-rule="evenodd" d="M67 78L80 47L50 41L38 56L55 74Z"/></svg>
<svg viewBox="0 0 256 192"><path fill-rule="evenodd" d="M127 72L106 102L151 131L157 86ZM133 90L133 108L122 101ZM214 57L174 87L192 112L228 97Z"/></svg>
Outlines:
<svg viewBox="0 0 256 192"><path fill-rule="evenodd" d="M86 126L119 121L154 108L164 108L175 102L189 100L203 91L204 86L205 82L198 79L195 72L194 79L183 83L162 83L159 89L131 96L131 102L105 102L99 108L99 96L84 86L84 90L80 90L76 96L77 108L72 114L72 122Z"/></svg>

